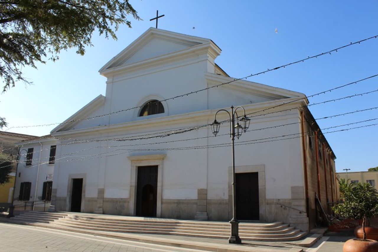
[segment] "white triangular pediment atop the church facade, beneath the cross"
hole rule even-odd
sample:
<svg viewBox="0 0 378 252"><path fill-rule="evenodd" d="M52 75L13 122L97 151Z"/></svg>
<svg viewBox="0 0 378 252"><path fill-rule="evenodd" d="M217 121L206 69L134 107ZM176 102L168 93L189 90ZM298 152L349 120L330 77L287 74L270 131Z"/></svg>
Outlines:
<svg viewBox="0 0 378 252"><path fill-rule="evenodd" d="M184 52L203 44L215 45L211 39L149 28L145 33L139 36L138 39L134 40L128 47L107 62L99 72L103 73L107 70L135 64L136 62L143 62L172 53ZM217 46L215 45L215 47ZM220 51L219 48L217 49Z"/></svg>

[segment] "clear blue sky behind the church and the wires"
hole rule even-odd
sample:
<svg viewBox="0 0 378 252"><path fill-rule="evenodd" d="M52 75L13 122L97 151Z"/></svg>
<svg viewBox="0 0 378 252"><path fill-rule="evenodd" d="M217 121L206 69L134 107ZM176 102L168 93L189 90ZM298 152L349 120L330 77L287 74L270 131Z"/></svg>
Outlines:
<svg viewBox="0 0 378 252"><path fill-rule="evenodd" d="M216 59L239 78L378 35L378 1L150 1L131 0L143 19L132 29L121 26L118 40L93 34L93 47L80 56L64 51L60 60L24 68L34 85L17 83L0 95L0 116L12 126L58 123L105 95L105 77L98 70L165 14L159 28L212 39L222 54ZM275 32L277 28L277 33ZM378 74L378 38L338 53L249 78L270 86L312 95ZM310 103L378 89L378 77L310 98ZM179 94L179 93L178 93ZM378 106L378 92L310 107L314 118ZM378 110L318 120L321 128L369 120ZM378 123L378 120L344 128ZM10 132L49 134L54 126L11 128ZM337 128L339 129L339 128ZM378 166L378 126L326 134L336 154L336 170L363 171ZM3 130L7 130L4 128ZM326 131L324 131L326 132Z"/></svg>

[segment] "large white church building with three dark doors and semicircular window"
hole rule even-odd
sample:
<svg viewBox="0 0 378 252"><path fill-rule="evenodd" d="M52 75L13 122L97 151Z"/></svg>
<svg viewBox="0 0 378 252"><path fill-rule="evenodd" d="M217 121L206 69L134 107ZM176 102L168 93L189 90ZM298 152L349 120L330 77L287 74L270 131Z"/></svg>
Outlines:
<svg viewBox="0 0 378 252"><path fill-rule="evenodd" d="M315 193L324 208L336 201L336 157L306 96L234 81L215 64L220 53L211 39L149 28L106 63L106 95L51 131L55 210L231 219L228 114L217 114L217 136L209 125L219 109L243 106L251 123L235 139L237 218L314 227Z"/></svg>

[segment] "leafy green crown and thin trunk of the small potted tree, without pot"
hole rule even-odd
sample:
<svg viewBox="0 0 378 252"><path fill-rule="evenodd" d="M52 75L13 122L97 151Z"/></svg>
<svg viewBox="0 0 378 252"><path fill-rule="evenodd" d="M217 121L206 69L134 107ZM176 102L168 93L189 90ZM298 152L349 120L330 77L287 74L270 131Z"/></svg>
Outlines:
<svg viewBox="0 0 378 252"><path fill-rule="evenodd" d="M366 218L378 215L378 196L368 183L356 183L344 191L344 202L332 207L335 215L352 219L363 219L364 239L366 239Z"/></svg>

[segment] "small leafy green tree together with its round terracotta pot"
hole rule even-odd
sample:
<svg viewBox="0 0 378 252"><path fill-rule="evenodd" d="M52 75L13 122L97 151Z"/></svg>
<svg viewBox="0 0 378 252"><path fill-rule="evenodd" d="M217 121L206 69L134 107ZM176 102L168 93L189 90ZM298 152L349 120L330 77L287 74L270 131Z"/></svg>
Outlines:
<svg viewBox="0 0 378 252"><path fill-rule="evenodd" d="M378 215L378 196L374 187L367 183L356 183L344 190L344 202L332 207L336 215L345 218L362 219L363 239L345 242L343 251L378 251L378 241L366 239L366 219Z"/></svg>

